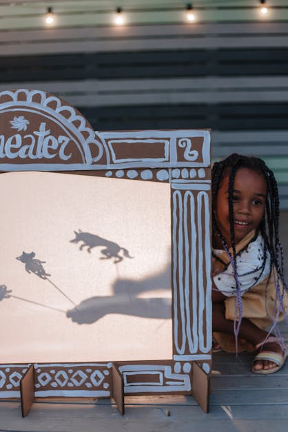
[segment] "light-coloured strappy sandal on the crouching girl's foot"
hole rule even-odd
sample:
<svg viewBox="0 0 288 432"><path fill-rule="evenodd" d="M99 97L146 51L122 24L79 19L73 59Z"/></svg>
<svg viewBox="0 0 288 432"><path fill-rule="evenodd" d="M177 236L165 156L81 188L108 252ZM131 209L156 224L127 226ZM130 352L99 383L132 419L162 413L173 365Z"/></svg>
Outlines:
<svg viewBox="0 0 288 432"><path fill-rule="evenodd" d="M260 344L256 345L256 349L259 349L264 344L271 343L271 342L277 342L278 345L283 350L283 353L276 353L275 351L260 351L254 358L253 365L258 360L268 360L269 362L273 362L276 364L275 367L272 367L271 369L254 369L253 365L251 368L251 371L253 373L258 373L258 375L268 375L268 373L275 373L281 369L283 364L285 363L286 357L287 357L287 348L283 347L282 339L276 338L275 336L270 336L269 338L265 339L263 342L260 342Z"/></svg>

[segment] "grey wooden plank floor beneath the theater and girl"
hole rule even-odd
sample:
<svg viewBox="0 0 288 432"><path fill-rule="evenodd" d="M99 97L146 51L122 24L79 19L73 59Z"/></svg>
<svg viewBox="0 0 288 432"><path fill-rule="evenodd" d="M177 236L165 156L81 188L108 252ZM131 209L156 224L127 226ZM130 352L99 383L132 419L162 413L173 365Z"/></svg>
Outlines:
<svg viewBox="0 0 288 432"><path fill-rule="evenodd" d="M208 414L190 396L126 397L123 416L106 399L37 400L27 418L19 401L2 401L0 432L287 432L288 360L269 376L251 373L252 360L214 354Z"/></svg>

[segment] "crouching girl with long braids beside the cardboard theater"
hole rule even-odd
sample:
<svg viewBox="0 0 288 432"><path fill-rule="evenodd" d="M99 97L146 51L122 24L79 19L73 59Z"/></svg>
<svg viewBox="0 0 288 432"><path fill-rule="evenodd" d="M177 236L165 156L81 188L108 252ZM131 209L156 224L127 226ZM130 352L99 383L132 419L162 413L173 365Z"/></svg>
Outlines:
<svg viewBox="0 0 288 432"><path fill-rule="evenodd" d="M288 296L273 172L238 154L214 163L212 209L214 348L256 350L251 370L274 373L287 356L277 322Z"/></svg>

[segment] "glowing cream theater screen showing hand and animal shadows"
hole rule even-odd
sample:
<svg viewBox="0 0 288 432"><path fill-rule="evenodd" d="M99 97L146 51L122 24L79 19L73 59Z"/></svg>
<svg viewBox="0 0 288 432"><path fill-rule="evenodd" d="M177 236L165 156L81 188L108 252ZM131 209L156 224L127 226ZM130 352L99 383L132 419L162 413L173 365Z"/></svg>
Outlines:
<svg viewBox="0 0 288 432"><path fill-rule="evenodd" d="M1 363L172 358L169 193L1 174Z"/></svg>

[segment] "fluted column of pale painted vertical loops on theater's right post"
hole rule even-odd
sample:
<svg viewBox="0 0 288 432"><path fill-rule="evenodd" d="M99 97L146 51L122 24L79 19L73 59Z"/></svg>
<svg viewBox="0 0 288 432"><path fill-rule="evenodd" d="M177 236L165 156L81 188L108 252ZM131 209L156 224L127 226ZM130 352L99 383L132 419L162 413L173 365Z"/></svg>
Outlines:
<svg viewBox="0 0 288 432"><path fill-rule="evenodd" d="M182 185L177 184L177 186L183 189ZM190 189L194 189L194 186L190 185ZM202 189L205 189L206 185L201 186ZM174 187L176 188L175 185ZM209 197L207 192L202 190L198 192L195 203L192 191L187 190L188 187L185 189L185 192L175 190L173 193L174 344L177 353L174 360L192 360L191 355L195 354L199 356L198 359L204 360L207 358L206 353L211 349L212 343L211 307L209 307L211 302ZM202 226L203 216L204 227ZM196 265L197 260L198 265ZM203 269L205 269L205 285L207 286L204 285ZM192 322L190 304L192 304ZM205 335L203 333L203 313L206 313ZM181 321L180 327L178 320ZM181 334L179 334L179 328L182 330ZM188 349L189 353L187 353ZM203 354L200 354L199 351Z"/></svg>

